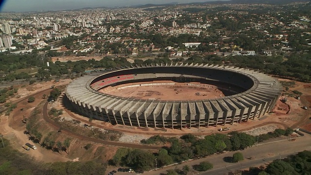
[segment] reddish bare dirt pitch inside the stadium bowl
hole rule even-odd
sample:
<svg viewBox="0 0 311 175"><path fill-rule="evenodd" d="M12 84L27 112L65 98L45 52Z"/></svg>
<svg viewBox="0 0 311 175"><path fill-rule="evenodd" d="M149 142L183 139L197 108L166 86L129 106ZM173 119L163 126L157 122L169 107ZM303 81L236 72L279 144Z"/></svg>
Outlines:
<svg viewBox="0 0 311 175"><path fill-rule="evenodd" d="M173 83L174 85L150 85L139 87L128 87L131 85ZM190 86L196 84L197 86ZM123 87L122 89L120 89ZM100 90L102 93L136 98L142 100L205 100L225 97L224 93L213 85L200 83L176 83L173 81L153 81L146 83L123 84L116 87L108 87Z"/></svg>

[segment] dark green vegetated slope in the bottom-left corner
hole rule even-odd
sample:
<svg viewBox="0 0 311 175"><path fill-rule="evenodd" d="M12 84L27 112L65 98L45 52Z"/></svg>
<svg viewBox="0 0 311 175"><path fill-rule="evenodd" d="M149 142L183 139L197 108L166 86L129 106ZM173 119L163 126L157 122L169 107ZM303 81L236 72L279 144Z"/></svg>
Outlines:
<svg viewBox="0 0 311 175"><path fill-rule="evenodd" d="M104 175L104 162L91 160L86 162L37 162L29 155L15 150L10 141L0 140L0 175Z"/></svg>

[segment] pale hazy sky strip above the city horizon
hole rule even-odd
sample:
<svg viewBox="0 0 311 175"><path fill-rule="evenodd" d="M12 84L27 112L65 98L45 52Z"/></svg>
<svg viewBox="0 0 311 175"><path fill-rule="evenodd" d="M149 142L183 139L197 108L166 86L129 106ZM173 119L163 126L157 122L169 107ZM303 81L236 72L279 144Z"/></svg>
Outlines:
<svg viewBox="0 0 311 175"><path fill-rule="evenodd" d="M2 1L2 0L0 0ZM115 7L138 4L163 4L170 2L189 3L213 0L4 0L2 11L29 12L41 10L68 10L84 7Z"/></svg>

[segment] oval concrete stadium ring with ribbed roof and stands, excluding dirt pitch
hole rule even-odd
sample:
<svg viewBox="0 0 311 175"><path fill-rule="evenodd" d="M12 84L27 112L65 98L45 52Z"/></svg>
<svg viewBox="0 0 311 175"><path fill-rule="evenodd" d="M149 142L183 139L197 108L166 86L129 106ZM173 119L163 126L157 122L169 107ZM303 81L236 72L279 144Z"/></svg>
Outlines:
<svg viewBox="0 0 311 175"><path fill-rule="evenodd" d="M206 100L162 101L124 98L98 91L155 80L189 82L189 86L190 82L212 84L227 95ZM85 75L70 83L65 93L73 107L86 117L129 126L184 128L241 123L263 116L273 110L281 87L271 76L234 66L156 64Z"/></svg>

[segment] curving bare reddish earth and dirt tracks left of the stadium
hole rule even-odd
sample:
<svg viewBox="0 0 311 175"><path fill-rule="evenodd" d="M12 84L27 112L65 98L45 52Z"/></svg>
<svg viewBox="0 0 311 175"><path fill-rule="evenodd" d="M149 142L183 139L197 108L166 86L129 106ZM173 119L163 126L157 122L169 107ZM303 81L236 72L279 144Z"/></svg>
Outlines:
<svg viewBox="0 0 311 175"><path fill-rule="evenodd" d="M34 85L19 85L17 95L8 100L8 102L15 103L20 101L22 98L25 98L22 102L17 104L17 108L15 108L9 116L5 116L4 114L0 116L0 133L4 136L5 139L10 140L13 148L18 151L28 154L34 157L37 161L43 162L54 162L54 161L69 161L69 160L79 160L79 161L87 161L91 159L101 159L103 161L107 161L111 157L113 157L113 153L117 150L116 147L101 145L93 142L88 142L84 140L77 140L74 138L70 138L71 144L69 148L69 155L65 152L59 154L57 152L53 152L52 150L47 150L40 146L40 144L34 143L32 140L29 140L30 136L24 134L26 130L26 124L22 123L23 118L29 118L35 108L42 109L42 102L45 102L47 99L43 99L43 94L49 95L50 86L55 85L59 87L60 85L67 85L71 80L62 80L60 82L41 82ZM21 88L22 87L22 88ZM28 103L28 97L35 97L35 102ZM19 96L19 98L17 98ZM41 105L40 105L41 104ZM42 114L39 114L42 115ZM58 133L57 130L52 129L45 121L40 118L37 122L38 131L42 133L42 140L47 135L52 134L52 139L57 141L64 141L69 136ZM31 149L30 151L26 151L21 146L26 142L32 143L37 147L36 150ZM86 150L84 147L87 143L91 143L92 146L90 149ZM100 148L100 147L104 147ZM100 148L100 149L99 149ZM107 151L109 150L109 151Z"/></svg>

